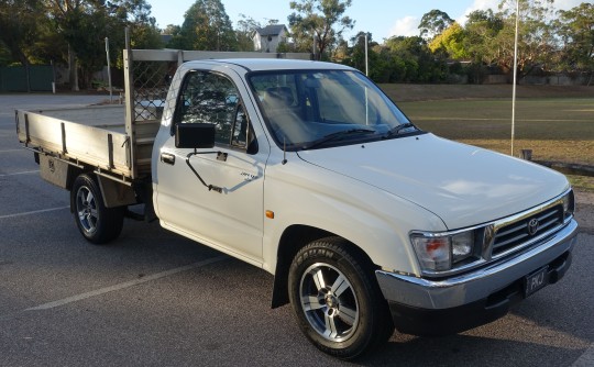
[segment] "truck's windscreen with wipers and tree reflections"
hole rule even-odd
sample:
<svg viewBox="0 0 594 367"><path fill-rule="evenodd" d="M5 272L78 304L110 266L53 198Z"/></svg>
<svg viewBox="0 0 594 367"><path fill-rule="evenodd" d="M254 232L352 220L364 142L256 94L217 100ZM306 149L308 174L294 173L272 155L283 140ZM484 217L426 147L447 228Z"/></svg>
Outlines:
<svg viewBox="0 0 594 367"><path fill-rule="evenodd" d="M350 70L253 74L268 129L279 145L298 151L392 137L408 119L366 77Z"/></svg>

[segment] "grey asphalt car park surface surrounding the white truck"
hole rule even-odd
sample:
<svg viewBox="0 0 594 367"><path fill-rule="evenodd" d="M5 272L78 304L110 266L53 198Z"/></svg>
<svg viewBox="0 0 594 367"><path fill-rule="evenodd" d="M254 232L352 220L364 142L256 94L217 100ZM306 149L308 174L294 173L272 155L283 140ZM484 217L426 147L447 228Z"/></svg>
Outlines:
<svg viewBox="0 0 594 367"><path fill-rule="evenodd" d="M258 268L157 222L127 220L107 246L80 236L68 192L44 182L19 144L14 109L102 99L0 96L0 366L345 365L307 342L289 305L270 308L273 277ZM350 364L594 365L594 203L578 199L582 229L559 283L494 323L438 338L395 333Z"/></svg>

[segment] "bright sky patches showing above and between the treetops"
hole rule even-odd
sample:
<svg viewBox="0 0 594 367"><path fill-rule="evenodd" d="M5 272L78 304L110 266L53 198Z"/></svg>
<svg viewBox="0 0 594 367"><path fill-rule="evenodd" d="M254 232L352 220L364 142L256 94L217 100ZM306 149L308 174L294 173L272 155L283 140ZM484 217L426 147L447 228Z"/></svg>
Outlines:
<svg viewBox="0 0 594 367"><path fill-rule="evenodd" d="M182 25L184 14L196 0L146 0L152 7L152 15L162 29L168 24ZM556 9L568 10L591 0L556 0ZM237 26L245 14L266 24L276 19L288 24L287 16L293 12L290 0L221 0L227 14ZM422 15L439 9L464 24L466 14L474 10L497 9L499 0L352 0L345 15L355 21L354 29L344 35L346 40L359 32L371 32L374 41L382 43L394 35L418 35Z"/></svg>

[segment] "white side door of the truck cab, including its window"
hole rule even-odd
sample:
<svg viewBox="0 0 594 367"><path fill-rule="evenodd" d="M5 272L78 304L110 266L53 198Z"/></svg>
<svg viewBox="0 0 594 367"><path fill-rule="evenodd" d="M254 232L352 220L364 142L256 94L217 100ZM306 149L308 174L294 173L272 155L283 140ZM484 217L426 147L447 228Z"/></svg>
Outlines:
<svg viewBox="0 0 594 367"><path fill-rule="evenodd" d="M233 73L233 71L232 71ZM239 87L238 87L239 86ZM268 149L255 137L233 75L188 71L156 164L162 224L254 264L262 263L263 184ZM213 148L178 148L177 124L215 124Z"/></svg>

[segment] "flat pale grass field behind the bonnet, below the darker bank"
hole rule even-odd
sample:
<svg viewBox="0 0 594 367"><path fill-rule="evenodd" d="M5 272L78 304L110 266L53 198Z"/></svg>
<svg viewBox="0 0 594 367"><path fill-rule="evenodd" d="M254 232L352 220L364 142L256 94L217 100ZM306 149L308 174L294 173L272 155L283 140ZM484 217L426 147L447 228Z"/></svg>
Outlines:
<svg viewBox="0 0 594 367"><path fill-rule="evenodd" d="M510 101L442 100L399 105L424 130L510 153ZM515 155L519 149L532 149L535 159L594 165L594 98L518 100L514 147Z"/></svg>

